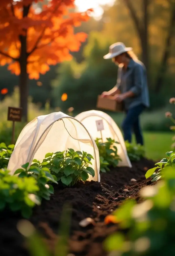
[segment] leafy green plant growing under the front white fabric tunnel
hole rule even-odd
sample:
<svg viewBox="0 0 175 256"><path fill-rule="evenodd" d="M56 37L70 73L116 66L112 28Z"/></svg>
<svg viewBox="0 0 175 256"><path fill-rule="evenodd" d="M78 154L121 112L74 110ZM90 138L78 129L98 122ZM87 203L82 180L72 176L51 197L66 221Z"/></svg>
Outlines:
<svg viewBox="0 0 175 256"><path fill-rule="evenodd" d="M71 187L80 179L86 181L88 174L95 176L94 169L89 166L92 165L91 159L94 159L92 155L69 148L68 151L47 153L42 163L36 159L33 162L42 168L49 168L60 185Z"/></svg>

